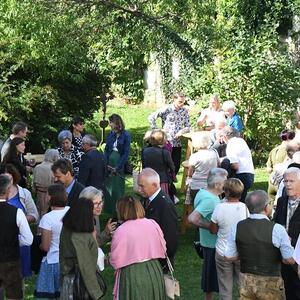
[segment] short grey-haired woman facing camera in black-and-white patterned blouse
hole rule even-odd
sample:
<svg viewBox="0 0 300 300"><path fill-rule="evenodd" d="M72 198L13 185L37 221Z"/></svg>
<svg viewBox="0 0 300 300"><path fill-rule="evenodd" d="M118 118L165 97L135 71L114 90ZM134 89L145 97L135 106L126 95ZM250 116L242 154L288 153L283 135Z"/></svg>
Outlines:
<svg viewBox="0 0 300 300"><path fill-rule="evenodd" d="M62 130L58 134L58 142L60 144L60 147L57 148L59 152L59 158L66 158L71 161L73 170L74 170L74 176L77 178L78 172L79 172L79 163L81 161L81 157L83 155L83 152L80 151L80 149L74 145L72 145L72 133L69 130Z"/></svg>

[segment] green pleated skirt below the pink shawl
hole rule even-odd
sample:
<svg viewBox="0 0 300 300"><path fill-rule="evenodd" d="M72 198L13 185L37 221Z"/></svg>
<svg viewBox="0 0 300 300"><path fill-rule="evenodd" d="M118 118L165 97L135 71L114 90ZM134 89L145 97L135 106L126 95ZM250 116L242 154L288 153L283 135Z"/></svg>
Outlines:
<svg viewBox="0 0 300 300"><path fill-rule="evenodd" d="M166 300L160 263L152 259L121 269L119 300Z"/></svg>

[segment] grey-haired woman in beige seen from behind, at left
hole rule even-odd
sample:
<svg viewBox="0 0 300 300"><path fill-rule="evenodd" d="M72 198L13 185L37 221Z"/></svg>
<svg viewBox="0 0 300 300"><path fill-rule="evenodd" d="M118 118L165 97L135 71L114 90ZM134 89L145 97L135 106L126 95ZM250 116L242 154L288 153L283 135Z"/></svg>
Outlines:
<svg viewBox="0 0 300 300"><path fill-rule="evenodd" d="M48 187L54 183L51 167L59 159L57 149L47 149L44 161L33 169L33 189L36 192L36 206L40 216L48 212Z"/></svg>

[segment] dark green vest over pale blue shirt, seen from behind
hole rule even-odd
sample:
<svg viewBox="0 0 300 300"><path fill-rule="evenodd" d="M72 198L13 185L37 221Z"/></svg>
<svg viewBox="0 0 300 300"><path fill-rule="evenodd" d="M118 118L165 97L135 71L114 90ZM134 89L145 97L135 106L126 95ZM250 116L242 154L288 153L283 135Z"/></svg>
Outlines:
<svg viewBox="0 0 300 300"><path fill-rule="evenodd" d="M241 272L280 276L281 254L272 243L275 223L267 219L246 219L237 224L236 245Z"/></svg>

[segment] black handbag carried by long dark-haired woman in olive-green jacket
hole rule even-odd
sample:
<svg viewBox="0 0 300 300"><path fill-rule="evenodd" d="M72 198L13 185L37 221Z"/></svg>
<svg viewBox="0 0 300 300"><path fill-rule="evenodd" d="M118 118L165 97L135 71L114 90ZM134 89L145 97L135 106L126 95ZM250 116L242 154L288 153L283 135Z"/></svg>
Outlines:
<svg viewBox="0 0 300 300"><path fill-rule="evenodd" d="M100 270L97 269L96 271L96 277L99 284L99 287L102 291L102 298L107 290L107 286L105 281L103 280L103 277L101 276ZM82 279L82 276L80 274L80 270L78 266L75 267L75 273L74 273L74 281L73 281L73 299L80 299L80 300L92 300L91 296L89 295L84 281Z"/></svg>

